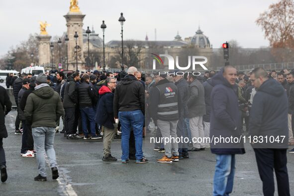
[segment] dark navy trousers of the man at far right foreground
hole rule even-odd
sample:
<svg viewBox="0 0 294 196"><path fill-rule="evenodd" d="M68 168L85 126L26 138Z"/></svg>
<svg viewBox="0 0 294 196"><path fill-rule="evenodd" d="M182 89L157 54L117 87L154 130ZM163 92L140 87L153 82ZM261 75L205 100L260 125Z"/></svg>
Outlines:
<svg viewBox="0 0 294 196"><path fill-rule="evenodd" d="M263 184L263 194L274 196L276 173L279 196L290 196L289 177L287 170L287 149L254 149L258 172Z"/></svg>

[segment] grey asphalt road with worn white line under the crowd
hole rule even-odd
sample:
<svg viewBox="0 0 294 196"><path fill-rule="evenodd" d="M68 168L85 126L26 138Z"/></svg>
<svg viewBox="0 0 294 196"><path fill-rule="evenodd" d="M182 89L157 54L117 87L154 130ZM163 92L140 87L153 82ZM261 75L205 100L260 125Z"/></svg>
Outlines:
<svg viewBox="0 0 294 196"><path fill-rule="evenodd" d="M0 196L209 196L212 194L215 158L210 150L192 152L178 163L160 164L162 153L153 150L150 134L144 139L147 164L103 162L102 142L67 140L56 133L55 151L60 178L54 181L47 168L47 182L35 182L35 158L20 156L21 135L14 135L16 111L6 117L8 138L4 139L8 180L0 184ZM112 155L120 160L120 140L112 142ZM291 193L294 193L294 154L288 153ZM276 188L277 190L277 188ZM261 196L262 183L255 155L246 145L246 154L236 157L232 196ZM278 195L276 193L276 195Z"/></svg>

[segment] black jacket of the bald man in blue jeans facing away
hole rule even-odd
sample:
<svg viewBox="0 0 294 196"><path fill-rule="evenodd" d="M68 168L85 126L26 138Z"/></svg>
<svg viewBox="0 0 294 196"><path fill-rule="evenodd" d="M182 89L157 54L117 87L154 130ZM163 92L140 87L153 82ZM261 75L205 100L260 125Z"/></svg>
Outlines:
<svg viewBox="0 0 294 196"><path fill-rule="evenodd" d="M145 113L145 90L135 76L127 75L117 84L114 94L114 117L118 111L134 111L141 109Z"/></svg>

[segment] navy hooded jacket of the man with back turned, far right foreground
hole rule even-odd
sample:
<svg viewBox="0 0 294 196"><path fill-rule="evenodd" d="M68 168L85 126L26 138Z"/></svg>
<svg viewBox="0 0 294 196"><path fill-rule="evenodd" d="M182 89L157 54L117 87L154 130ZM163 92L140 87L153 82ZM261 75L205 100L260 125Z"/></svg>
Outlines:
<svg viewBox="0 0 294 196"><path fill-rule="evenodd" d="M263 142L259 139L253 144L254 148L288 148L288 98L276 80L266 80L257 90L250 110L249 133L263 138Z"/></svg>

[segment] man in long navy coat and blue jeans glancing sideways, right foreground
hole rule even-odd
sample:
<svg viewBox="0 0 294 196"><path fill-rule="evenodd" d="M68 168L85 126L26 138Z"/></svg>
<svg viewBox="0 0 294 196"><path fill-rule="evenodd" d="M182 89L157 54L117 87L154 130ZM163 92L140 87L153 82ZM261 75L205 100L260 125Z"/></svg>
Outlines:
<svg viewBox="0 0 294 196"><path fill-rule="evenodd" d="M234 67L225 66L211 79L210 139L241 137L236 76ZM233 191L235 154L245 153L243 141L214 143L213 140L210 146L211 152L216 154L213 196L228 196Z"/></svg>

